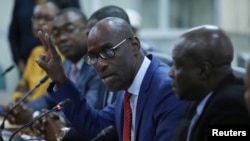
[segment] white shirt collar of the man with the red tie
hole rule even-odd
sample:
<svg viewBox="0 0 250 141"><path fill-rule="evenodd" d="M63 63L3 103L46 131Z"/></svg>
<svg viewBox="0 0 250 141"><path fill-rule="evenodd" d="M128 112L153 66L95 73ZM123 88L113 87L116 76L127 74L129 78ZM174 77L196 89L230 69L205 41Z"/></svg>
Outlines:
<svg viewBox="0 0 250 141"><path fill-rule="evenodd" d="M142 65L134 78L132 85L128 88L129 93L133 95L139 95L142 80L148 70L150 62L151 61L145 56L143 59Z"/></svg>

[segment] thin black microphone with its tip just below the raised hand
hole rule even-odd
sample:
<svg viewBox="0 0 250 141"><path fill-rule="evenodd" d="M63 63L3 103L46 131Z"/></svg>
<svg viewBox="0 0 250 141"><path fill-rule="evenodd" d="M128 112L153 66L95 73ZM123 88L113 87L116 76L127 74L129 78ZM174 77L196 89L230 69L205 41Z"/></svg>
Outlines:
<svg viewBox="0 0 250 141"><path fill-rule="evenodd" d="M29 95L31 95L40 85L42 85L46 80L48 80L48 76L44 76L36 85L33 89L31 89L30 91L28 91L25 95L23 95L23 97L21 97L14 105L13 107L11 107L11 109L7 112L7 114L4 116L2 124L1 124L1 128L0 128L0 133L1 130L4 129L4 122L5 120L8 118L9 114L21 103L24 101L24 99L26 97L28 97ZM1 141L1 140L0 140Z"/></svg>

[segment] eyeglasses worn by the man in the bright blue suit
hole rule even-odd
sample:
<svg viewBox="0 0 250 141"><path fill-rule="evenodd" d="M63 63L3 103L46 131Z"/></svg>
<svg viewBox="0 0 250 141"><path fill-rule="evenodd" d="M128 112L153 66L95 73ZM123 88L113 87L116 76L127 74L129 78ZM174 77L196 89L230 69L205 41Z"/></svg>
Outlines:
<svg viewBox="0 0 250 141"><path fill-rule="evenodd" d="M84 60L89 65L94 65L98 61L98 57L101 57L102 59L109 59L115 56L115 49L117 49L119 46L121 46L124 42L126 42L128 39L132 39L133 37L128 37L123 39L121 42L116 44L115 46L111 48L106 48L99 52L98 54L87 54L84 56Z"/></svg>

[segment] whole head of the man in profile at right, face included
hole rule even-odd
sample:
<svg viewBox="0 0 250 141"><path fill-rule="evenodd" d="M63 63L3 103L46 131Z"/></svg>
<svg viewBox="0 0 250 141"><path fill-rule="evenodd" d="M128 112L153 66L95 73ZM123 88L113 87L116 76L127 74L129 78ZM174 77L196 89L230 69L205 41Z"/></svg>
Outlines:
<svg viewBox="0 0 250 141"><path fill-rule="evenodd" d="M216 26L199 26L183 33L172 56L169 76L180 99L200 101L232 73L232 43Z"/></svg>

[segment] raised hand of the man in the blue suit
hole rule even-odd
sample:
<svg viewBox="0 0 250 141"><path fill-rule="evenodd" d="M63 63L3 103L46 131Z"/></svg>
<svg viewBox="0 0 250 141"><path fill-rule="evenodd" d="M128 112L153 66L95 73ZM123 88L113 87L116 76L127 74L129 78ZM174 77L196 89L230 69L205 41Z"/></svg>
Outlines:
<svg viewBox="0 0 250 141"><path fill-rule="evenodd" d="M46 52L40 55L36 62L47 73L52 81L60 86L66 81L67 78L63 70L61 57L52 43L46 26L43 27L43 30L38 31L38 36L45 46Z"/></svg>

